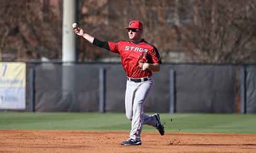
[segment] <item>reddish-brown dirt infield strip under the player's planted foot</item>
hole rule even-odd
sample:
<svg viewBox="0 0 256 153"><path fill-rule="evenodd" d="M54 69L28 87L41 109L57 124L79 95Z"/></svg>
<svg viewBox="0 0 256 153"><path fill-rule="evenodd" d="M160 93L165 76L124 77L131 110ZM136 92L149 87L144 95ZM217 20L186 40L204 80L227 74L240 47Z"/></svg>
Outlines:
<svg viewBox="0 0 256 153"><path fill-rule="evenodd" d="M256 152L256 134L142 132L141 146L121 146L128 134L0 130L0 152Z"/></svg>

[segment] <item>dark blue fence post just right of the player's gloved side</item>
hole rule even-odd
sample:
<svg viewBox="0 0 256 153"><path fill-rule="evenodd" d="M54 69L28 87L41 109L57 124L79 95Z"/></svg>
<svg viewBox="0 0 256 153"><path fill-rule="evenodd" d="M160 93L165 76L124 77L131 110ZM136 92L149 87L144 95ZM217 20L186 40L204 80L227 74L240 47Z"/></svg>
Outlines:
<svg viewBox="0 0 256 153"><path fill-rule="evenodd" d="M175 76L174 76L174 70L170 70L170 109L169 113L173 114L176 112L176 106L175 106Z"/></svg>

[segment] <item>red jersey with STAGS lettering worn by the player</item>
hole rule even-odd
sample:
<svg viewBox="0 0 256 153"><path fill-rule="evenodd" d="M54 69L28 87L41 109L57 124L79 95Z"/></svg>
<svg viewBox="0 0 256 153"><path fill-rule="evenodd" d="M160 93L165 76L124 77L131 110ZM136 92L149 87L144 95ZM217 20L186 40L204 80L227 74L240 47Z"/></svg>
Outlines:
<svg viewBox="0 0 256 153"><path fill-rule="evenodd" d="M121 41L108 42L108 45L110 51L120 54L123 68L130 78L143 78L152 75L151 70L142 70L139 67L138 60L142 52L147 52L150 55L148 63L162 63L157 48L143 39L138 43Z"/></svg>

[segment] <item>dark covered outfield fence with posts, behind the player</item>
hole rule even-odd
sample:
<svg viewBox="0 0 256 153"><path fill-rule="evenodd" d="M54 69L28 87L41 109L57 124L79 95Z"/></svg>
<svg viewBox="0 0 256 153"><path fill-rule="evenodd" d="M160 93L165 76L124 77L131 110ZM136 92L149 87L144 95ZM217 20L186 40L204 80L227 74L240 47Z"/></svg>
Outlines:
<svg viewBox="0 0 256 153"><path fill-rule="evenodd" d="M255 113L256 66L162 64L146 112ZM27 63L26 110L125 112L120 63Z"/></svg>

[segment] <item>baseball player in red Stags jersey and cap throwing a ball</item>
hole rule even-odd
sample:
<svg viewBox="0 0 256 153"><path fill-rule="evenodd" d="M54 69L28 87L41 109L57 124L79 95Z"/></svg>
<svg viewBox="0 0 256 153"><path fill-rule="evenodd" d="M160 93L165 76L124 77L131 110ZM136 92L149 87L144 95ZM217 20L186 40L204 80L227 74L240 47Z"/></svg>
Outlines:
<svg viewBox="0 0 256 153"><path fill-rule="evenodd" d="M104 42L73 24L74 32L96 46L117 53L121 57L123 68L127 75L125 92L126 117L131 121L130 137L121 145L141 145L142 124L154 126L161 135L164 127L159 114L146 115L143 106L153 85L152 72L159 72L161 59L155 46L142 39L142 23L139 20L129 22L125 27L129 41Z"/></svg>

